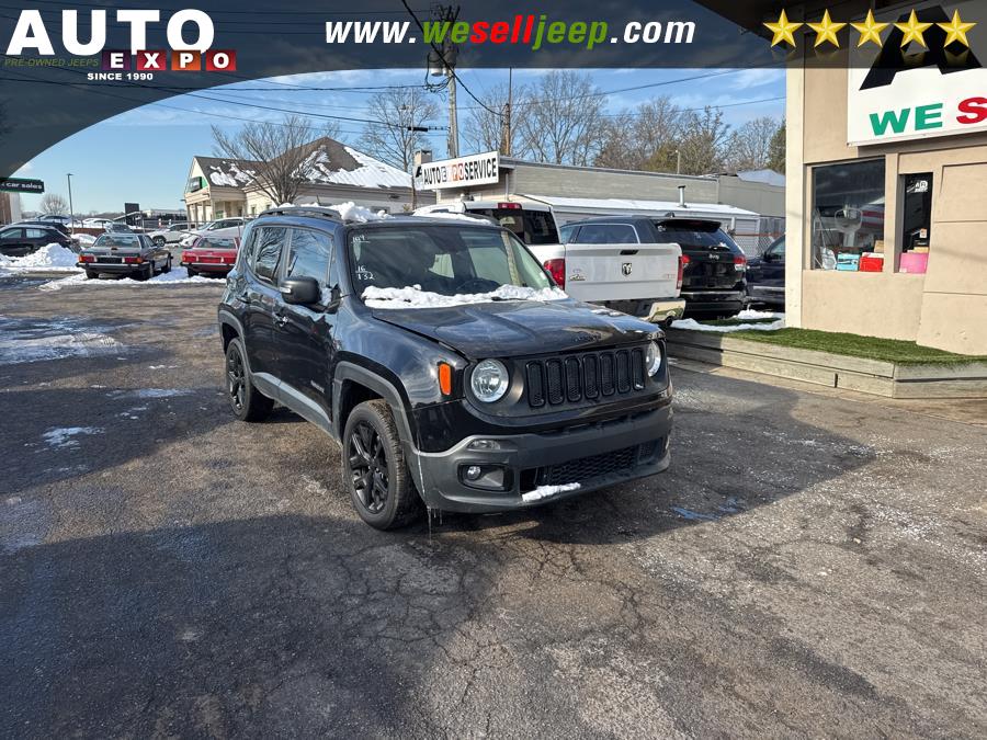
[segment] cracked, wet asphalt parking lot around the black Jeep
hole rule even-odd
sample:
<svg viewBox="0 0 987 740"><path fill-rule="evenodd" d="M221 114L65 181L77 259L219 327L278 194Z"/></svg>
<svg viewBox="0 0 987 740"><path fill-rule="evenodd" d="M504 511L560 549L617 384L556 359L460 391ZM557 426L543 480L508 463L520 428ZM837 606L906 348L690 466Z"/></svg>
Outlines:
<svg viewBox="0 0 987 740"><path fill-rule="evenodd" d="M2 737L987 733L985 426L677 367L668 474L381 533L218 283L0 287Z"/></svg>

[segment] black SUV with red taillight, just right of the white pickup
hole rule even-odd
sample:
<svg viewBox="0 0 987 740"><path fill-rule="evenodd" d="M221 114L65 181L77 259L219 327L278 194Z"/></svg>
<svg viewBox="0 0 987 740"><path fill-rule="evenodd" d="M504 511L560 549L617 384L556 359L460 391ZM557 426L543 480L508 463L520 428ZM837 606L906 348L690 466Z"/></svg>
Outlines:
<svg viewBox="0 0 987 740"><path fill-rule="evenodd" d="M685 314L733 316L747 295L747 257L719 221L703 218L657 218L662 241L682 248L682 297Z"/></svg>

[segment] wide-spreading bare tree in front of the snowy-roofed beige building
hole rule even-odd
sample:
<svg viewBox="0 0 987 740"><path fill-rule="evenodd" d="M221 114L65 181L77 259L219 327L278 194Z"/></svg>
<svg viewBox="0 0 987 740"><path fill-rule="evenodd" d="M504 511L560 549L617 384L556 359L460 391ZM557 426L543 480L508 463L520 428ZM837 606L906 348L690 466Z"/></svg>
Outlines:
<svg viewBox="0 0 987 740"><path fill-rule="evenodd" d="M254 171L252 184L272 203L293 203L318 163L313 145L333 130L317 129L300 115L285 115L279 123L249 123L232 135L213 126L214 149L219 157L248 161Z"/></svg>

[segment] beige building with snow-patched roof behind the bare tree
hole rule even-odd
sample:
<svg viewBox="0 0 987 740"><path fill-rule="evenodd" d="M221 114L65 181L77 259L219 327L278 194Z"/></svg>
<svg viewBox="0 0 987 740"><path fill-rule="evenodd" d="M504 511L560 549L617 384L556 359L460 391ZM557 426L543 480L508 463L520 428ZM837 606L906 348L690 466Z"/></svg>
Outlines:
<svg viewBox="0 0 987 740"><path fill-rule="evenodd" d="M309 175L296 205L356 205L400 213L411 207L411 178L406 172L334 139L305 145ZM185 213L193 224L230 216L256 216L273 203L258 181L257 162L193 157L185 181Z"/></svg>

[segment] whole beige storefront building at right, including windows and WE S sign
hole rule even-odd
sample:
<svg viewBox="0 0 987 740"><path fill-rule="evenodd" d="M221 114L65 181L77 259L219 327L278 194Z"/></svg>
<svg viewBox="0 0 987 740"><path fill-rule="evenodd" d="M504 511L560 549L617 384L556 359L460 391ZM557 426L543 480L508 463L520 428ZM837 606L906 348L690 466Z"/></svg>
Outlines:
<svg viewBox="0 0 987 740"><path fill-rule="evenodd" d="M703 4L759 34L774 2ZM867 3L840 5L861 23ZM824 4L790 8L817 21ZM987 23L975 3L878 3L883 45L814 50L795 32L787 69L787 325L987 354ZM894 23L929 25L901 46ZM945 44L957 10L982 21ZM835 13L835 11L833 11ZM791 48L791 47L785 47Z"/></svg>

